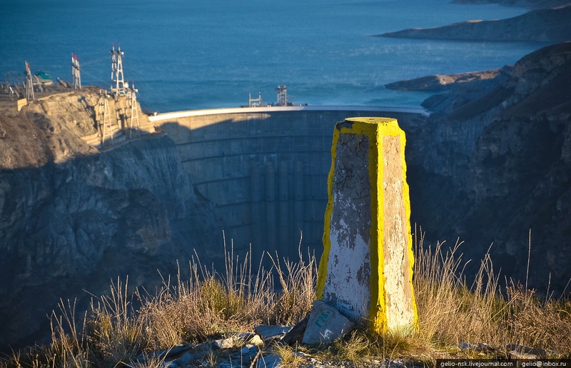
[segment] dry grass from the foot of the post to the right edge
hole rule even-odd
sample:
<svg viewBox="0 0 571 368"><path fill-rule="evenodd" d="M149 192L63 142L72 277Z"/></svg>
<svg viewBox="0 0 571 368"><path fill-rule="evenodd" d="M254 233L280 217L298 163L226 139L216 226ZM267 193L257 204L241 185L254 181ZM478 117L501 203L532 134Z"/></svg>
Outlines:
<svg viewBox="0 0 571 368"><path fill-rule="evenodd" d="M540 300L533 290L512 282L505 282L502 292L488 253L468 285L468 262L459 254L460 243L448 250L443 244L423 247L422 237L416 243L418 332L378 335L357 329L328 346L300 347L301 351L328 362L349 361L355 367L383 359L430 363L444 357L507 357L506 344L545 349L550 357L571 357L569 300ZM461 350L460 342L480 345Z"/></svg>

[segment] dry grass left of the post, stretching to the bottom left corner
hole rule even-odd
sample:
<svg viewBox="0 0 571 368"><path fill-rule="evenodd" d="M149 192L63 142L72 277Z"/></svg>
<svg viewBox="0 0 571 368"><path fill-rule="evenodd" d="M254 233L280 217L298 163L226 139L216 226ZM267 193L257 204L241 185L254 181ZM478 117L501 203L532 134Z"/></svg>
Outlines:
<svg viewBox="0 0 571 368"><path fill-rule="evenodd" d="M118 280L109 295L94 297L81 316L74 303L61 301L51 316L51 344L14 352L0 367L161 367L160 359L138 362L138 354L251 332L256 324L295 323L315 300L315 257L270 259L271 269L264 269L261 260L254 273L251 257L241 261L231 250L226 252L225 274L209 272L191 259L190 277L183 279L179 272L175 283L163 279L156 295L140 290L128 294L128 283ZM140 309L133 310L128 295Z"/></svg>

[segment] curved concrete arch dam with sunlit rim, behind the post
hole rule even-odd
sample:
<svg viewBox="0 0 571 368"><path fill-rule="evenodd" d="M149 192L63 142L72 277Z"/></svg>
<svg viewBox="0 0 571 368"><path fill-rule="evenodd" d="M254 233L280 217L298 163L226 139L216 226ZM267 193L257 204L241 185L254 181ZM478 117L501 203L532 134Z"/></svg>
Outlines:
<svg viewBox="0 0 571 368"><path fill-rule="evenodd" d="M320 254L336 122L388 116L403 126L423 115L422 109L268 106L149 119L176 142L195 191L213 204L234 250L251 244L256 260L264 251L297 257L300 232L302 249Z"/></svg>

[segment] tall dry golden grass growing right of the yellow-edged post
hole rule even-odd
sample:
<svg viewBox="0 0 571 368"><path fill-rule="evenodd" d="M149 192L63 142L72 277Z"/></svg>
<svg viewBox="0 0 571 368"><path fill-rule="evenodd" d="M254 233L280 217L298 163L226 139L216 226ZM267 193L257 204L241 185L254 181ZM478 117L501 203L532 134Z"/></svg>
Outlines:
<svg viewBox="0 0 571 368"><path fill-rule="evenodd" d="M460 244L443 252L443 244L423 249L422 240L415 252L415 297L423 339L445 351L454 351L460 342L485 343L487 352L478 354L501 357L506 344L518 344L571 357L569 300L541 300L511 281L501 292L489 253L468 286Z"/></svg>

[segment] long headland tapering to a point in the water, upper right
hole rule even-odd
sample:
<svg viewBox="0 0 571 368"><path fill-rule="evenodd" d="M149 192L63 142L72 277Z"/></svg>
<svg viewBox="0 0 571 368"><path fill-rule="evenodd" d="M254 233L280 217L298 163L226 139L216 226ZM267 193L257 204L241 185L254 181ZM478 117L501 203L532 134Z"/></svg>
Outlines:
<svg viewBox="0 0 571 368"><path fill-rule="evenodd" d="M453 39L468 41L571 40L571 5L539 9L510 19L463 21L435 28L413 28L380 34L382 37L408 39Z"/></svg>

